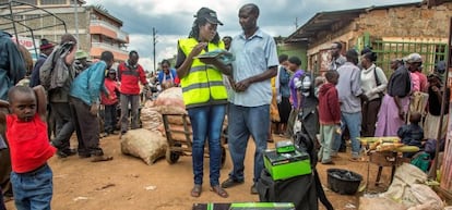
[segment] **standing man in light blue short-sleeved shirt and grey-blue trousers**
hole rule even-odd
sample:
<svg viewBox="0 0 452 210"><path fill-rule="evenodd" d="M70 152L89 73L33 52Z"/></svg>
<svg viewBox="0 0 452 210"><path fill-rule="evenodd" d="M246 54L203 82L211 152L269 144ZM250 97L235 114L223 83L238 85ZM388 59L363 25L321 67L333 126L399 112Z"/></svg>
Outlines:
<svg viewBox="0 0 452 210"><path fill-rule="evenodd" d="M234 97L229 98L228 144L234 168L224 188L245 182L243 160L250 135L255 143L254 184L251 194L258 194L255 183L264 168L263 152L266 149L270 126L270 103L272 100L271 78L276 76L278 59L272 36L262 32L257 21L259 8L253 3L239 10L239 23L243 33L237 35L230 45L233 61Z"/></svg>

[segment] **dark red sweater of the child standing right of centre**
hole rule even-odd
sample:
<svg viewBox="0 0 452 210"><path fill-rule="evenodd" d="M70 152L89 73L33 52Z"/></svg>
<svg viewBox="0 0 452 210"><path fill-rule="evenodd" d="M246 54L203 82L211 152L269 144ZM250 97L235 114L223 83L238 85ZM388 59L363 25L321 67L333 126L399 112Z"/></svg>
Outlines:
<svg viewBox="0 0 452 210"><path fill-rule="evenodd" d="M326 83L319 90L319 121L322 125L338 124L341 122L341 106L337 89Z"/></svg>

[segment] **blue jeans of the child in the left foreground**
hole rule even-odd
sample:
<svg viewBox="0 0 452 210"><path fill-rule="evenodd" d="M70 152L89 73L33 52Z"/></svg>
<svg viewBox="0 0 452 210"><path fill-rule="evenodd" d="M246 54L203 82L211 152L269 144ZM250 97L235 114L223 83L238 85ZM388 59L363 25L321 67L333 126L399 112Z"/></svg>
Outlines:
<svg viewBox="0 0 452 210"><path fill-rule="evenodd" d="M49 165L28 173L11 172L11 183L17 210L50 209L53 184Z"/></svg>

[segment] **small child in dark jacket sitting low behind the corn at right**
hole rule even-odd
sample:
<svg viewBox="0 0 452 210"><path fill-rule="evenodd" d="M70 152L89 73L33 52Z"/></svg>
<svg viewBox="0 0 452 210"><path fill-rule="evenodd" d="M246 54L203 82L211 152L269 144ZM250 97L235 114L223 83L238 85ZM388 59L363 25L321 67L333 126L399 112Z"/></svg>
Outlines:
<svg viewBox="0 0 452 210"><path fill-rule="evenodd" d="M421 115L415 111L409 115L409 125L402 125L397 131L397 136L404 145L420 147L424 138L423 127L419 126ZM415 152L404 152L404 158L412 158Z"/></svg>

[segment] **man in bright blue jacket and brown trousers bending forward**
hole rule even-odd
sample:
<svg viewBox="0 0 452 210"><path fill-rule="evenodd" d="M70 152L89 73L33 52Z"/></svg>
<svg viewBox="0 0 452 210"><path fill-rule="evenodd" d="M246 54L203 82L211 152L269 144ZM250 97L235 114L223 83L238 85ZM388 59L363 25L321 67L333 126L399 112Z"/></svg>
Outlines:
<svg viewBox="0 0 452 210"><path fill-rule="evenodd" d="M100 54L100 61L80 73L71 85L69 92L72 104L71 111L75 122L74 126L79 140L78 151L81 158L104 157L104 151L99 147L97 112L100 91L104 89L105 75L114 61L114 54L110 51L104 51Z"/></svg>

